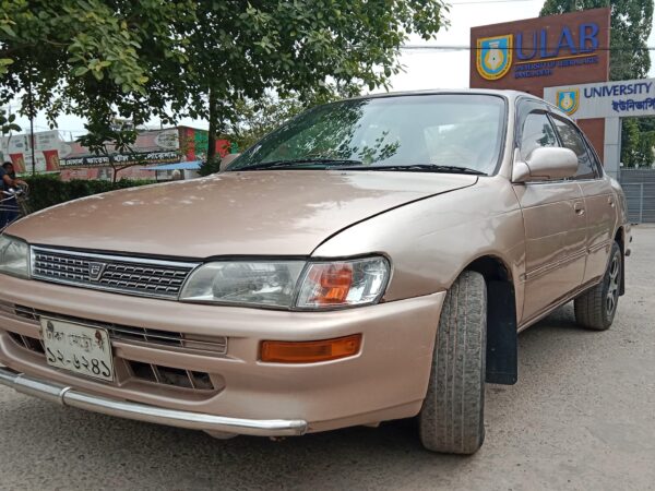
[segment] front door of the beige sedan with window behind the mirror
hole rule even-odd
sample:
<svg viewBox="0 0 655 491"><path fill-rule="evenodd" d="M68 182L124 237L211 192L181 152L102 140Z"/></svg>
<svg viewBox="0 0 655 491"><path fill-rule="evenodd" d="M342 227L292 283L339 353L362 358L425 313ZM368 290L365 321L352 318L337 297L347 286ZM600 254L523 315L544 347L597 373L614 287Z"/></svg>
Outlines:
<svg viewBox="0 0 655 491"><path fill-rule="evenodd" d="M539 146L560 146L545 105L524 99L516 142L522 159ZM586 215L577 181L514 184L525 226L525 300L522 322L538 316L580 287L586 258Z"/></svg>

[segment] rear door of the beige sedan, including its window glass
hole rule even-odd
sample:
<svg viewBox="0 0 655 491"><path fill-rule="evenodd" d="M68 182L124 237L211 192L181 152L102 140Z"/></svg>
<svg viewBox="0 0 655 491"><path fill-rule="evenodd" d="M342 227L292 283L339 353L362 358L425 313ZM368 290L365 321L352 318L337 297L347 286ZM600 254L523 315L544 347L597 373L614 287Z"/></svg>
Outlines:
<svg viewBox="0 0 655 491"><path fill-rule="evenodd" d="M563 146L577 155L575 180L582 189L587 223L587 259L583 283L593 283L605 273L614 241L617 203L609 178L582 132L568 119L552 115Z"/></svg>

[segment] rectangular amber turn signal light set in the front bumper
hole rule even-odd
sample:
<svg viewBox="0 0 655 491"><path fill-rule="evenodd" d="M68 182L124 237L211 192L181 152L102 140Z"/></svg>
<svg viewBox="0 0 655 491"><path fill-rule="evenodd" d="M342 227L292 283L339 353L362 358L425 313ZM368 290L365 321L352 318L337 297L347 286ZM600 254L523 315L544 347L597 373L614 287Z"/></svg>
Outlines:
<svg viewBox="0 0 655 491"><path fill-rule="evenodd" d="M359 352L361 334L312 342L262 342L261 360L270 363L317 363Z"/></svg>

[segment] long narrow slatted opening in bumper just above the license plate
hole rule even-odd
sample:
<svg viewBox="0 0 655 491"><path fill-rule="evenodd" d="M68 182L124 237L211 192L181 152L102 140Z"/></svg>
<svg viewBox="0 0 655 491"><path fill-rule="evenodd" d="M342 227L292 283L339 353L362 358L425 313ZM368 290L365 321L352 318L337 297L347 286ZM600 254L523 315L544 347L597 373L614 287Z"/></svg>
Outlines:
<svg viewBox="0 0 655 491"><path fill-rule="evenodd" d="M146 327L135 327L109 322L91 321L88 319L74 318L71 315L61 315L51 312L36 310L31 307L16 306L0 301L0 311L11 313L19 318L27 319L40 325L40 318L57 319L60 321L74 322L76 324L88 325L93 327L105 328L109 333L111 340L143 345L148 347L159 347L168 349L183 349L198 352L200 355L225 355L227 354L227 337L225 336L202 336L182 334L172 331L152 330Z"/></svg>

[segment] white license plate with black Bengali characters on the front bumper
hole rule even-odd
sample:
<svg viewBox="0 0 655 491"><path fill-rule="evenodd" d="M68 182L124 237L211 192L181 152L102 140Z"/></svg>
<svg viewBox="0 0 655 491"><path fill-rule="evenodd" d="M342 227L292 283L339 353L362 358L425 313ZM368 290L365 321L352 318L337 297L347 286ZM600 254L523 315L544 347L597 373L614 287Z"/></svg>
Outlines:
<svg viewBox="0 0 655 491"><path fill-rule="evenodd" d="M107 330L47 318L40 322L49 366L114 381L114 357Z"/></svg>

